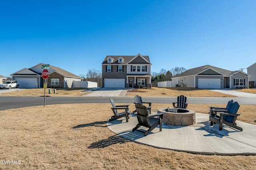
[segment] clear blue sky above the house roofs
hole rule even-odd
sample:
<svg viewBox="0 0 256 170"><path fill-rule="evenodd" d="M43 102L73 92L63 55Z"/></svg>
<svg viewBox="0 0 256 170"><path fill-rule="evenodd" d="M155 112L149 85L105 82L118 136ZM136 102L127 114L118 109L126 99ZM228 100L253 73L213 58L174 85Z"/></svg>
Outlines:
<svg viewBox="0 0 256 170"><path fill-rule="evenodd" d="M106 55L148 55L152 72L256 62L255 0L2 0L0 75L39 63L86 75Z"/></svg>

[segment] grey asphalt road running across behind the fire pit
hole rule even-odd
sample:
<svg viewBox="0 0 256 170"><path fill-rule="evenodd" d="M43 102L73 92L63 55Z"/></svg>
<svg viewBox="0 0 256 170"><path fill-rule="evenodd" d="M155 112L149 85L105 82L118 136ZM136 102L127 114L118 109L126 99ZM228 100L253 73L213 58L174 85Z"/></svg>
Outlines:
<svg viewBox="0 0 256 170"><path fill-rule="evenodd" d="M46 105L53 104L83 104L83 103L110 103L110 97L46 97ZM132 104L133 97L111 97L115 103ZM255 98L223 98L223 97L190 97L187 99L189 104L227 104L229 100L234 100L239 104L256 105ZM152 104L170 104L176 102L176 97L143 97L144 102ZM0 96L0 110L14 109L20 107L44 106L44 97L17 97Z"/></svg>

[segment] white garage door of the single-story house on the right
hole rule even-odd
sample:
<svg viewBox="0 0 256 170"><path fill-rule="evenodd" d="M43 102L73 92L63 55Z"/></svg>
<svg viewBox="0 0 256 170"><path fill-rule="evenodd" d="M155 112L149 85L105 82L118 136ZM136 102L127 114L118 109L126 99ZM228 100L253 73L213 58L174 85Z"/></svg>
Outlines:
<svg viewBox="0 0 256 170"><path fill-rule="evenodd" d="M198 78L198 88L220 88L220 78Z"/></svg>

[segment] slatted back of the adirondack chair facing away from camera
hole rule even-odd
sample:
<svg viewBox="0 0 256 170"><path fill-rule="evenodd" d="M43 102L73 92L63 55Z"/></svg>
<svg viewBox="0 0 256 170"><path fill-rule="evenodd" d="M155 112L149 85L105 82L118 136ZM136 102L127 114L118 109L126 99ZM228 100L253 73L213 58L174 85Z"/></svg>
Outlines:
<svg viewBox="0 0 256 170"><path fill-rule="evenodd" d="M148 116L147 107L143 106L140 103L136 103L135 107L136 107L137 115L140 115L140 116L137 116L139 124L143 125L145 127L150 127L149 118L146 117L146 116Z"/></svg>

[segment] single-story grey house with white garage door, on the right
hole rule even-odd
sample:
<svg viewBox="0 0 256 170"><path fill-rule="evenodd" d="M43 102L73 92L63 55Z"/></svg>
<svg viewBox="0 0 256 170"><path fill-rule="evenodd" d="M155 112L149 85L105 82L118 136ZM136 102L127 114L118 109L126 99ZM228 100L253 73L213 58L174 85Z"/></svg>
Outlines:
<svg viewBox="0 0 256 170"><path fill-rule="evenodd" d="M172 87L192 87L206 89L248 88L249 74L238 70L230 71L205 65L192 68L172 77Z"/></svg>

